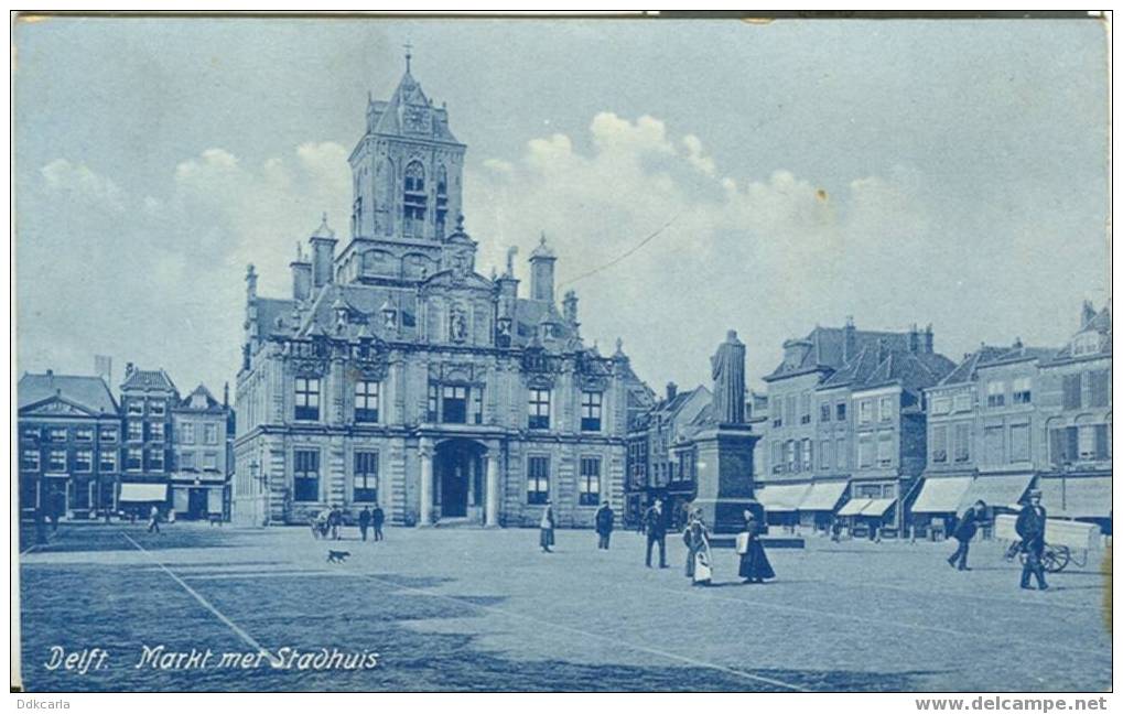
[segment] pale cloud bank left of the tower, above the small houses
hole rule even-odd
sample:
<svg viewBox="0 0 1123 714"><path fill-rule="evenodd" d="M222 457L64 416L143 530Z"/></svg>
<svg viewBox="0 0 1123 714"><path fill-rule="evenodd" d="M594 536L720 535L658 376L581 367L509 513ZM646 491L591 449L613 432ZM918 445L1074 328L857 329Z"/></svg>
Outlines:
<svg viewBox="0 0 1123 714"><path fill-rule="evenodd" d="M208 148L143 194L66 158L40 176L17 228L24 369L89 373L92 355L108 354L164 367L183 388L220 388L238 368L246 264L263 293L284 296L294 245L320 214L349 228L350 170L334 143L259 165Z"/></svg>

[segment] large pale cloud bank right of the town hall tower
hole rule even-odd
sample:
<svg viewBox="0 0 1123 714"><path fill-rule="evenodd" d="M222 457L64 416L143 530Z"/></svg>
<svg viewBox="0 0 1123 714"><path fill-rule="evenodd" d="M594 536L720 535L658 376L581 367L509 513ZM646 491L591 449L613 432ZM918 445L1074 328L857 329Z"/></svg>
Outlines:
<svg viewBox="0 0 1123 714"><path fill-rule="evenodd" d="M725 175L696 134L649 116L601 112L587 137L535 138L521 157L483 165L465 181L480 264L501 265L509 245L527 255L545 231L559 290L581 294L586 337L626 337L652 384L705 381L729 328L749 337L758 378L785 338L841 323L871 284L879 299L907 290L900 246L931 236L922 181L906 168L831 190L784 168Z"/></svg>

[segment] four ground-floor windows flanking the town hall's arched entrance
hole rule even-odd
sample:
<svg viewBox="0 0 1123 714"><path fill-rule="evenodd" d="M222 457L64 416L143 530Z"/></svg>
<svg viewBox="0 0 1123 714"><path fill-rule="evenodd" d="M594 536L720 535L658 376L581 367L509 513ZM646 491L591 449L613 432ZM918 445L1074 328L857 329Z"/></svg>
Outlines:
<svg viewBox="0 0 1123 714"><path fill-rule="evenodd" d="M378 500L378 452L356 451L351 470L351 501L373 503ZM577 504L597 505L601 494L601 457L583 456L577 478ZM293 451L293 501L320 501L320 452L316 449ZM550 457L527 458L527 503L542 504L550 494Z"/></svg>

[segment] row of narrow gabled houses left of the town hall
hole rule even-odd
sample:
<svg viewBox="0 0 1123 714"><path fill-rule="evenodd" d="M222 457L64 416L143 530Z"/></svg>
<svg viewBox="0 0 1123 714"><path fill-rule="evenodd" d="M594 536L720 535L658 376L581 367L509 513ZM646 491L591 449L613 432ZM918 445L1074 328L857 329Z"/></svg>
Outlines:
<svg viewBox="0 0 1123 714"><path fill-rule="evenodd" d="M181 401L164 370L129 364L119 399L103 377L49 369L25 374L17 395L21 516L143 515L154 505L179 518L223 512L234 413L202 385ZM181 452L174 427L177 417L199 414L213 427L200 425L200 443L208 449L200 454L201 469L189 469L194 473L183 483L177 465L193 455ZM208 483L195 483L202 479ZM200 485L212 489L204 494L206 509L191 493Z"/></svg>

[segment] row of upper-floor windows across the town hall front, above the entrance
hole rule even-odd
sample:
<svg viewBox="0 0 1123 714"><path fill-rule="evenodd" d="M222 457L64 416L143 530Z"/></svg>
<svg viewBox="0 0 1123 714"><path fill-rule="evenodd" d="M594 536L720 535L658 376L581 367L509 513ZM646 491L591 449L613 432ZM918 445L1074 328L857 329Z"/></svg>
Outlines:
<svg viewBox="0 0 1123 714"><path fill-rule="evenodd" d="M298 377L295 382L296 411L300 421L320 419L320 379ZM355 421L378 422L381 383L360 379L355 383ZM582 392L581 430L600 431L604 403L602 392ZM469 411L471 408L471 411ZM431 423L481 424L484 418L483 387L459 384L429 384L426 420ZM527 403L528 427L550 428L550 390L530 390Z"/></svg>

